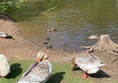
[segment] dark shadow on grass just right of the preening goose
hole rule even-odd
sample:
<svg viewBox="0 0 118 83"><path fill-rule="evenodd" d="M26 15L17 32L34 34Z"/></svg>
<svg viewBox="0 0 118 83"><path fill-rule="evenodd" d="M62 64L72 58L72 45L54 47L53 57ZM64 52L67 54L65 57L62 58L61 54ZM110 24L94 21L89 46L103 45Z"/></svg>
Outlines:
<svg viewBox="0 0 118 83"><path fill-rule="evenodd" d="M50 79L46 82L46 83L61 83L61 81L63 80L63 75L65 74L65 72L58 72L53 74Z"/></svg>

